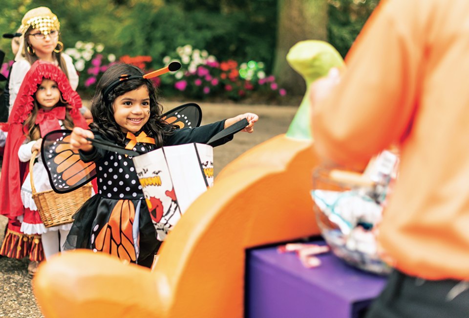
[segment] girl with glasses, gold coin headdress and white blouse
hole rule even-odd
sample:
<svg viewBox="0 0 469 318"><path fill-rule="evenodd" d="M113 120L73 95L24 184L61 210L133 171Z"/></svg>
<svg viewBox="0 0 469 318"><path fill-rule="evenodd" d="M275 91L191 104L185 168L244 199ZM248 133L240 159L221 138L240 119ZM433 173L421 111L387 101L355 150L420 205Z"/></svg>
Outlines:
<svg viewBox="0 0 469 318"><path fill-rule="evenodd" d="M29 10L21 20L20 47L10 75L10 107L13 108L21 83L31 65L42 60L58 66L67 75L70 86L78 87L78 74L70 56L62 53L64 44L59 41L59 19L47 7Z"/></svg>

